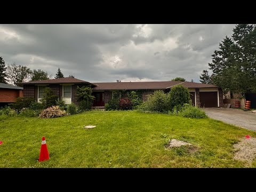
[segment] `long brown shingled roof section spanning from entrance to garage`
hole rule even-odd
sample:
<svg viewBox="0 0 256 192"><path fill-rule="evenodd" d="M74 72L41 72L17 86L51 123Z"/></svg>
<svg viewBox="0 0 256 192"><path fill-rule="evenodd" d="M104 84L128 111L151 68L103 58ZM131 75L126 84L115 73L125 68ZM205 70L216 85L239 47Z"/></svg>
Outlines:
<svg viewBox="0 0 256 192"><path fill-rule="evenodd" d="M217 87L212 84L179 82L179 81L162 81L162 82L113 82L113 83L93 83L98 85L93 90L163 90L171 88L174 85L183 85L188 88L206 88Z"/></svg>

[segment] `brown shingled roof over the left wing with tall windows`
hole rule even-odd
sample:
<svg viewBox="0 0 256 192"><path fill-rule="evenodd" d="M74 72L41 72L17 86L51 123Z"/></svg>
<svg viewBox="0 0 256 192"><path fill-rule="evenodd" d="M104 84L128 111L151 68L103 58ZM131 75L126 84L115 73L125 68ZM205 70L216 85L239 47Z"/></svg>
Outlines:
<svg viewBox="0 0 256 192"><path fill-rule="evenodd" d="M63 77L63 78L47 79L47 80L41 80L41 81L22 82L22 83L19 83L19 84L23 85L23 84L39 84L39 83L47 83L47 84L56 84L56 83L89 83L89 84L92 84L90 82L86 82L86 81L83 81L83 80L80 80L80 79L77 79L77 78L73 78L73 77Z"/></svg>

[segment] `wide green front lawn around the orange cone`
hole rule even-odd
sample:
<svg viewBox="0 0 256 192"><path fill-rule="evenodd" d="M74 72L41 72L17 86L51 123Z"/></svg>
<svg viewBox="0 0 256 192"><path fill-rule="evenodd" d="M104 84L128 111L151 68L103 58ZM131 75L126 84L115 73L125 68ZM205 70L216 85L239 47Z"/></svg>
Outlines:
<svg viewBox="0 0 256 192"><path fill-rule="evenodd" d="M89 111L54 119L0 116L0 167L246 167L233 159L233 144L247 134L256 137L210 118L138 111ZM50 159L38 162L43 136ZM169 139L199 150L166 149Z"/></svg>

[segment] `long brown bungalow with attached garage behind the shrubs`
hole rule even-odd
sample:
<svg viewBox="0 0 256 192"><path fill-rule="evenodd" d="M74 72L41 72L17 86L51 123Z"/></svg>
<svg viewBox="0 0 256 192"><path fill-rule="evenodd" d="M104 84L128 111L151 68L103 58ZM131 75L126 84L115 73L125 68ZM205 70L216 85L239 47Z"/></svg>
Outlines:
<svg viewBox="0 0 256 192"><path fill-rule="evenodd" d="M198 107L222 107L223 96L222 89L212 84L162 81L162 82L113 82L113 83L90 83L72 77L58 79L49 79L42 81L23 82L23 96L35 98L39 101L43 97L44 89L49 86L59 97L63 98L67 104L76 101L77 86L91 85L95 97L93 106L105 106L110 99L113 99L113 93L116 91L142 91L142 98L153 93L156 90L169 92L174 85L183 85L189 89L193 104Z"/></svg>

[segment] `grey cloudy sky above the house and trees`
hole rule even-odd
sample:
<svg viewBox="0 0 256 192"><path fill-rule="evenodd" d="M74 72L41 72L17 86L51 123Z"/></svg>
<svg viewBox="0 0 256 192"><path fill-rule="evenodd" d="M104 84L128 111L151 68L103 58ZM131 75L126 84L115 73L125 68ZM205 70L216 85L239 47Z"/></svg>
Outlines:
<svg viewBox="0 0 256 192"><path fill-rule="evenodd" d="M1 25L0 56L89 82L199 82L235 25Z"/></svg>

